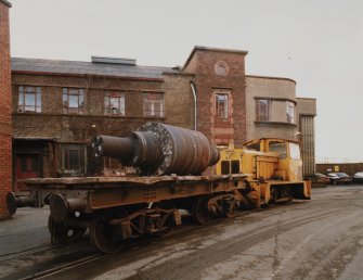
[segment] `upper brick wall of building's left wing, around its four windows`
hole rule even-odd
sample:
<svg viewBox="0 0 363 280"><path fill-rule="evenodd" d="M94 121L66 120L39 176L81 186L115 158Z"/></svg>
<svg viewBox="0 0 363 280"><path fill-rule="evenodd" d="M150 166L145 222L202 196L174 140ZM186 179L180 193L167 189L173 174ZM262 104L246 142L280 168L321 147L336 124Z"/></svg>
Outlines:
<svg viewBox="0 0 363 280"><path fill-rule="evenodd" d="M18 87L41 87L41 113L17 112ZM95 133L120 136L147 120L143 116L143 92L164 92L163 82L100 77L47 76L12 73L14 137L56 138L59 141L88 141ZM83 88L82 114L64 114L62 88ZM104 115L106 91L124 92L126 115Z"/></svg>

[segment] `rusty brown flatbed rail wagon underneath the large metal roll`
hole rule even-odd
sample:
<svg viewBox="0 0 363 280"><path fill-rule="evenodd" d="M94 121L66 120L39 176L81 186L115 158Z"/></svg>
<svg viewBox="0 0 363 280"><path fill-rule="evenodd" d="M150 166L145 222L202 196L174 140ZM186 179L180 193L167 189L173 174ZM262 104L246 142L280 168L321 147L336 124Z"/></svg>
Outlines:
<svg viewBox="0 0 363 280"><path fill-rule="evenodd" d="M181 224L179 209L198 224L233 217L248 187L245 175L82 177L27 179L29 194L8 194L8 208L50 205L52 243L68 243L89 229L90 240L105 253L126 240L164 236Z"/></svg>

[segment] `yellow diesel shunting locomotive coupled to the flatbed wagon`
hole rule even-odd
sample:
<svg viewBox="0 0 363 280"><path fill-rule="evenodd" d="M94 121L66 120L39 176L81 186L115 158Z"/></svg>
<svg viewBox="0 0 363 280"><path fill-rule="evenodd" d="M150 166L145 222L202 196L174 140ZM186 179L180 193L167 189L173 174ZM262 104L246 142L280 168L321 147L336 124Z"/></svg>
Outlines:
<svg viewBox="0 0 363 280"><path fill-rule="evenodd" d="M300 147L296 141L263 138L245 143L243 149L230 147L220 155L217 174L247 174L247 183L255 190L251 194L262 205L310 199L311 186L302 180Z"/></svg>

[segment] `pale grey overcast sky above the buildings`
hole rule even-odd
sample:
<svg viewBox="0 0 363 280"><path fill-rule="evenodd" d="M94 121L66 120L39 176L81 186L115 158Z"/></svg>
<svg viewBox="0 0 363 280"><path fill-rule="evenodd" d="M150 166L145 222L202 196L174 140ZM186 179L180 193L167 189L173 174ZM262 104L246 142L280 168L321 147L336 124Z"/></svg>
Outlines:
<svg viewBox="0 0 363 280"><path fill-rule="evenodd" d="M176 66L194 46L246 50L248 75L317 100L317 161L363 162L362 0L11 2L12 56Z"/></svg>

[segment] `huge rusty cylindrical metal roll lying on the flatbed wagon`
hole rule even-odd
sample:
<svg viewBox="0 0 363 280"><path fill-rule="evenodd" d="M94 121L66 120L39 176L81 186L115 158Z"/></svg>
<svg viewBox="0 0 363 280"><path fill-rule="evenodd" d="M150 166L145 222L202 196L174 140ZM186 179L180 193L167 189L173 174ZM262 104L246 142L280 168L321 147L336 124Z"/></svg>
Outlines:
<svg viewBox="0 0 363 280"><path fill-rule="evenodd" d="M199 175L219 160L217 149L200 132L146 123L124 138L96 136L93 155L117 157L145 175Z"/></svg>

